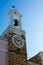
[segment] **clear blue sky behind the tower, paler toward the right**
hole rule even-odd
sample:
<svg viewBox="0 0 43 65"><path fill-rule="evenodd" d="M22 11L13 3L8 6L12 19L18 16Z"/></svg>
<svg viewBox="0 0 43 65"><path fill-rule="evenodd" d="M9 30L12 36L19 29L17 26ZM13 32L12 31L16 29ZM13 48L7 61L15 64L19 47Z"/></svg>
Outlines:
<svg viewBox="0 0 43 65"><path fill-rule="evenodd" d="M0 0L0 35L9 25L11 6L22 14L22 28L26 31L27 57L43 51L43 0Z"/></svg>

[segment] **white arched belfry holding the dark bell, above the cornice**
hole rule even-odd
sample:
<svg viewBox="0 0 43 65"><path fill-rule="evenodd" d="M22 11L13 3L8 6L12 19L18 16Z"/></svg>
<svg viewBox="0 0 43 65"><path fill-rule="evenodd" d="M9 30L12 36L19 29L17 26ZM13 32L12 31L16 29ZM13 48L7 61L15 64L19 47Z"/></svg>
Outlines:
<svg viewBox="0 0 43 65"><path fill-rule="evenodd" d="M22 15L13 6L13 10L9 11L9 25L14 29L22 30L21 17Z"/></svg>

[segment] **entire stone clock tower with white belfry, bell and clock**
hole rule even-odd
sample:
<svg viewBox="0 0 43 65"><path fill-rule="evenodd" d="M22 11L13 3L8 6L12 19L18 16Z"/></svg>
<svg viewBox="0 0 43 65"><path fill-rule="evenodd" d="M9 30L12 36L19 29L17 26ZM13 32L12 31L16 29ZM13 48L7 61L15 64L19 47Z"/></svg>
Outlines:
<svg viewBox="0 0 43 65"><path fill-rule="evenodd" d="M11 9L8 15L9 26L2 34L8 39L8 65L26 65L26 37L22 30L22 15L15 8Z"/></svg>

